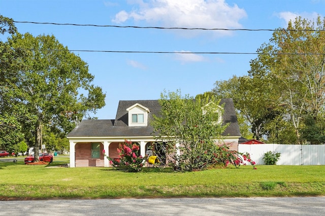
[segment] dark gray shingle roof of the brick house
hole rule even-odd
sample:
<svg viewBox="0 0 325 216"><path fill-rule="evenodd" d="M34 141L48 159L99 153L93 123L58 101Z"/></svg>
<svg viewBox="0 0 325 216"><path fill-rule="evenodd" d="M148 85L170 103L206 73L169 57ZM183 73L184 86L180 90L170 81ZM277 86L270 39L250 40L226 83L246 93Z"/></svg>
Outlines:
<svg viewBox="0 0 325 216"><path fill-rule="evenodd" d="M68 137L128 137L128 136L150 136L152 126L128 127L128 115L126 109L136 103L149 108L148 119L152 115L158 115L160 105L158 100L120 100L115 120L82 120L68 135ZM223 124L229 123L223 136L240 136L236 111L232 98L221 99L220 105L224 104L222 116Z"/></svg>

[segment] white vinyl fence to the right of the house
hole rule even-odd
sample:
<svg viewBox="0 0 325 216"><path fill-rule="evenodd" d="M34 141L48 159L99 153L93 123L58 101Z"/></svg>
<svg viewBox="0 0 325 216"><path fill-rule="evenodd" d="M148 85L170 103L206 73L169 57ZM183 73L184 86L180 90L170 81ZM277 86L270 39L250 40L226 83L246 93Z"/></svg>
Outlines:
<svg viewBox="0 0 325 216"><path fill-rule="evenodd" d="M256 164L263 161L266 152L281 153L277 165L325 165L325 145L239 144L238 152L248 152Z"/></svg>

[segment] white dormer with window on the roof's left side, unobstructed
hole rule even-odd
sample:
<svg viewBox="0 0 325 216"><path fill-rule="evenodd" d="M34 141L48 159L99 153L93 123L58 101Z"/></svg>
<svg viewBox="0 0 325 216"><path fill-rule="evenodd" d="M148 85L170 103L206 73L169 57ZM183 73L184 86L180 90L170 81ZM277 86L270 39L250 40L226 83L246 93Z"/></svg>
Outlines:
<svg viewBox="0 0 325 216"><path fill-rule="evenodd" d="M149 109L136 103L126 109L128 113L128 126L147 126Z"/></svg>

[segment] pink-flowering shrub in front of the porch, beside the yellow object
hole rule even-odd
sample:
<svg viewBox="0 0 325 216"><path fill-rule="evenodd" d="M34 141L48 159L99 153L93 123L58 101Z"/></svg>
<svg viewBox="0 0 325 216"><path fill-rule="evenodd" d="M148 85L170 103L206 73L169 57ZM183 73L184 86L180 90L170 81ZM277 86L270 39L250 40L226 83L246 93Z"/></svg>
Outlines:
<svg viewBox="0 0 325 216"><path fill-rule="evenodd" d="M136 143L125 140L123 144L120 143L117 149L120 156L119 162L109 158L105 151L103 151L103 154L110 161L110 164L124 166L128 172L139 172L144 165L143 161L145 159L139 154L139 149Z"/></svg>

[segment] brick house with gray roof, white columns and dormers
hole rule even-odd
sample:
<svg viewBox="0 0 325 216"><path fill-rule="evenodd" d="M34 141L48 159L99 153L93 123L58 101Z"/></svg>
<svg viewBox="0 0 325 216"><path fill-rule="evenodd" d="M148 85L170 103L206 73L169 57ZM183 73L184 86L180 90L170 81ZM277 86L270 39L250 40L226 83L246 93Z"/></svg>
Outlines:
<svg viewBox="0 0 325 216"><path fill-rule="evenodd" d="M233 150L238 150L241 134L233 100L221 99L220 105L222 104L222 124L229 124L222 134L223 141L231 143ZM125 139L137 142L142 156L154 149L166 162L163 151L157 149L158 145L155 146L153 127L149 123L152 115L158 115L160 109L158 100L121 100L115 119L82 120L67 136L70 141L70 167L108 167L109 161L104 158L103 150L110 158L118 158L116 149Z"/></svg>

